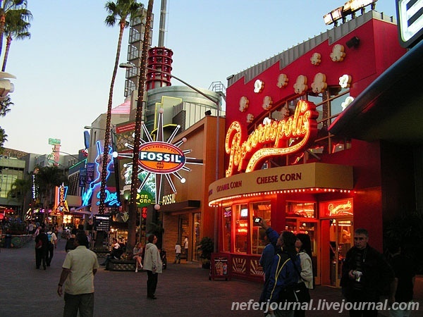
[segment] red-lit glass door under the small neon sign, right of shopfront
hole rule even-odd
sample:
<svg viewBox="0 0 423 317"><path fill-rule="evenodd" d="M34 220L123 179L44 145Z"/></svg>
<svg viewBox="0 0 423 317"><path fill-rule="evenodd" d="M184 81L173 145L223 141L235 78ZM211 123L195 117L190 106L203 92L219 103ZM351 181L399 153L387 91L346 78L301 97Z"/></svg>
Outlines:
<svg viewBox="0 0 423 317"><path fill-rule="evenodd" d="M333 218L329 220L329 223L330 285L339 287L343 262L345 261L347 251L352 247L351 236L354 233L353 218Z"/></svg>

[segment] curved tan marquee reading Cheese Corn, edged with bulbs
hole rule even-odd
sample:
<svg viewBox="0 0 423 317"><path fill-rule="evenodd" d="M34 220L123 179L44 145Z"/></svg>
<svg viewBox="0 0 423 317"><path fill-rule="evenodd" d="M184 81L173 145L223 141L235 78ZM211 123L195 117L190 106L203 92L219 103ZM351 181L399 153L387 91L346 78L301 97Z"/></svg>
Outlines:
<svg viewBox="0 0 423 317"><path fill-rule="evenodd" d="M353 167L327 163L283 166L216 180L209 186L209 205L250 194L331 192L353 189Z"/></svg>

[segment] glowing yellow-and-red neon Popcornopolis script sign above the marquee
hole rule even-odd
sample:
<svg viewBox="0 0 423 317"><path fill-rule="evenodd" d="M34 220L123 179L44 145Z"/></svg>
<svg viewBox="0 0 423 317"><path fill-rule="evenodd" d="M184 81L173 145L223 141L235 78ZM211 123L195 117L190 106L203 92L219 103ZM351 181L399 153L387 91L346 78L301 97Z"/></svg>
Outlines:
<svg viewBox="0 0 423 317"><path fill-rule="evenodd" d="M226 177L235 170L245 173L259 168L259 163L271 156L293 154L304 149L317 135L316 105L300 100L295 113L287 119L269 120L260 124L247 139L239 122L233 122L226 132L225 150L229 154Z"/></svg>

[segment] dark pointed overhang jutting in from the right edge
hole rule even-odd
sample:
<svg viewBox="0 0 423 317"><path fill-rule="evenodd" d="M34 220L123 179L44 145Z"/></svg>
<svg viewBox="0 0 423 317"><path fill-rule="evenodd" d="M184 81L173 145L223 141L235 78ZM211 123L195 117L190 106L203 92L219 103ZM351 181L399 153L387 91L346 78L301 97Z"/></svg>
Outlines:
<svg viewBox="0 0 423 317"><path fill-rule="evenodd" d="M422 56L423 41L364 89L336 118L329 132L364 141L422 144Z"/></svg>

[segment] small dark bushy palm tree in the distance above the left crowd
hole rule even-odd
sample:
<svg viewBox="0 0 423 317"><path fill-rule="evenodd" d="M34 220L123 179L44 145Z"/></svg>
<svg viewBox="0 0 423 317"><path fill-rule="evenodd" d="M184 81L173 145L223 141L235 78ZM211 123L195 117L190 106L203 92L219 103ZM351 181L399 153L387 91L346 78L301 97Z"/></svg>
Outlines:
<svg viewBox="0 0 423 317"><path fill-rule="evenodd" d="M35 184L38 187L39 199L44 207L44 220L48 213L49 206L54 197L54 189L62 183L67 183L68 179L61 168L57 166L46 166L39 168L35 175Z"/></svg>

